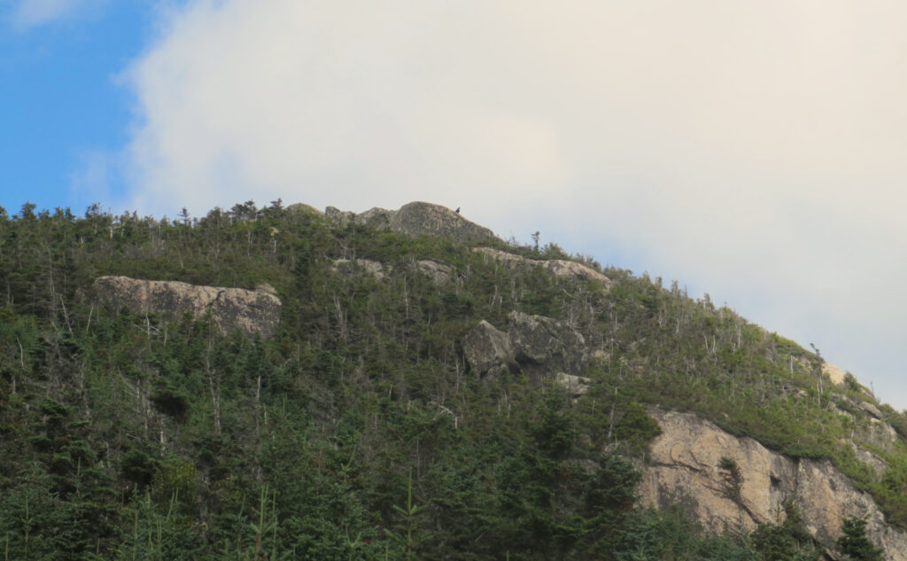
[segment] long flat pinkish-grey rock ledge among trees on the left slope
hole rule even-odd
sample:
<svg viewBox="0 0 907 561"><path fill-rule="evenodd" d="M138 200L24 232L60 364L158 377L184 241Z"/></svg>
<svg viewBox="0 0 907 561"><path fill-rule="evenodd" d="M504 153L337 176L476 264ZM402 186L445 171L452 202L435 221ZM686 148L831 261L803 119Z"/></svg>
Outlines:
<svg viewBox="0 0 907 561"><path fill-rule="evenodd" d="M115 308L126 306L135 313L180 318L190 312L199 319L210 312L221 330L239 329L267 338L277 330L282 308L268 287L244 290L111 276L95 279L93 292L97 300Z"/></svg>

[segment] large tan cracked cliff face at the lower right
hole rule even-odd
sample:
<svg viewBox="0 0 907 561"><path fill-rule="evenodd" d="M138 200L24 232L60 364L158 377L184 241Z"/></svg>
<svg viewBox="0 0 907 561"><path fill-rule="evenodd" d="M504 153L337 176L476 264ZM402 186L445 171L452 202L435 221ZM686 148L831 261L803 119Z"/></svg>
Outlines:
<svg viewBox="0 0 907 561"><path fill-rule="evenodd" d="M727 526L752 530L763 522L780 522L785 503L794 501L806 528L824 546L834 546L845 517L861 517L888 559L907 561L907 535L885 526L873 498L855 489L827 460L785 458L690 413L653 409L649 414L663 432L652 443L640 485L645 504L678 505L704 527L720 532ZM729 488L721 458L731 458L739 467L738 489Z"/></svg>

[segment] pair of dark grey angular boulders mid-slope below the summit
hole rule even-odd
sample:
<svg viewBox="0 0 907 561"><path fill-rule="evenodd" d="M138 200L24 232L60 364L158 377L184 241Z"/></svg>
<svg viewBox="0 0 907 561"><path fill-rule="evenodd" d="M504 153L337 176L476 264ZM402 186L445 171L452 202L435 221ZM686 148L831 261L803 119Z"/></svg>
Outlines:
<svg viewBox="0 0 907 561"><path fill-rule="evenodd" d="M511 312L507 332L480 321L463 337L463 353L480 376L514 366L538 376L576 376L587 359L580 332L563 321L519 311Z"/></svg>

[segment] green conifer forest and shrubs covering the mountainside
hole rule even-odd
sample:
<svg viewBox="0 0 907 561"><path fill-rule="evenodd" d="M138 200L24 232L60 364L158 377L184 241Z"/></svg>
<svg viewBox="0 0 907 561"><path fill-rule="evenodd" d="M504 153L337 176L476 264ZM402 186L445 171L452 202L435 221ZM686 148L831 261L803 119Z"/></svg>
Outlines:
<svg viewBox="0 0 907 561"><path fill-rule="evenodd" d="M569 258L554 244L499 249ZM338 272L336 259L391 272ZM451 266L451 281L416 260ZM180 221L0 209L4 559L818 555L791 513L753 536L703 536L679 512L640 508L629 460L658 436L652 405L829 458L907 527L907 419L883 407L899 433L886 438L860 409L874 400L855 379L823 383L814 353L676 282L605 272L610 290L450 240L333 229L280 202ZM90 298L107 274L268 282L281 327L257 340L112 310ZM587 393L468 369L463 333L504 327L512 310L583 332L598 351ZM891 467L877 476L852 442ZM722 467L733 490L736 465Z"/></svg>

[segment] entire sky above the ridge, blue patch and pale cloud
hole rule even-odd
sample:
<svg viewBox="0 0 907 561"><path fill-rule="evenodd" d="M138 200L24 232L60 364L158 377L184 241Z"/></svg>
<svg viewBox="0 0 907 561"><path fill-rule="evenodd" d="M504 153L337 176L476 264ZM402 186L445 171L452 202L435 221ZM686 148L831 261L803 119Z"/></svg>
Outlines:
<svg viewBox="0 0 907 561"><path fill-rule="evenodd" d="M907 5L0 0L0 205L429 201L907 408Z"/></svg>

